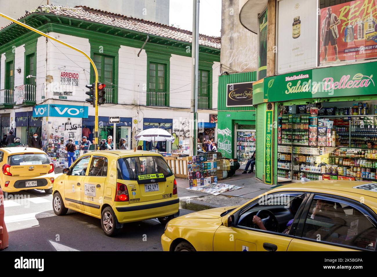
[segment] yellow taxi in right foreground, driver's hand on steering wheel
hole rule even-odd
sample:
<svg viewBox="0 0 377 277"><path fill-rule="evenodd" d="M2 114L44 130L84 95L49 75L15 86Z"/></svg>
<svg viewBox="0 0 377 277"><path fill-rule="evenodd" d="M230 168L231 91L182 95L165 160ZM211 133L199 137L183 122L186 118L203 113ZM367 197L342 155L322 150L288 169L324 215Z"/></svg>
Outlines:
<svg viewBox="0 0 377 277"><path fill-rule="evenodd" d="M375 251L377 183L280 185L239 207L167 223L164 251Z"/></svg>

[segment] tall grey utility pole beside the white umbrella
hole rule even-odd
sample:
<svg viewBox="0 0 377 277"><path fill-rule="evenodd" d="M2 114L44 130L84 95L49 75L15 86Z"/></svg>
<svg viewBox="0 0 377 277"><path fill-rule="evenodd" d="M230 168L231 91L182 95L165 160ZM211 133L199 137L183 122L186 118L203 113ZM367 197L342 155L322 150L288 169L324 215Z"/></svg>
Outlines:
<svg viewBox="0 0 377 277"><path fill-rule="evenodd" d="M192 86L191 113L193 113L193 142L190 143L190 153L195 156L198 150L198 63L199 63L199 4L200 0L193 0L192 11Z"/></svg>

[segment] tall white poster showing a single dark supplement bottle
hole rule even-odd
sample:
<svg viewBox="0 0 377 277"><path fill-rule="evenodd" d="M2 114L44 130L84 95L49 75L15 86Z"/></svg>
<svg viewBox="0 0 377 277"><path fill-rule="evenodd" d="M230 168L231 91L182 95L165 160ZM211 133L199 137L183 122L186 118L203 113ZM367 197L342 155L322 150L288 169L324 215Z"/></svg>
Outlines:
<svg viewBox="0 0 377 277"><path fill-rule="evenodd" d="M316 67L317 2L313 0L278 2L278 74Z"/></svg>

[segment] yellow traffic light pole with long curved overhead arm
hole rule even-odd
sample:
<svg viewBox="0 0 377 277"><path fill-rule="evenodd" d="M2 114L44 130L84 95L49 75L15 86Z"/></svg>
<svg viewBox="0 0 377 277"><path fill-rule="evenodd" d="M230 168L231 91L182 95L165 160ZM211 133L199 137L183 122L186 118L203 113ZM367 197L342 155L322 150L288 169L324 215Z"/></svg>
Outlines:
<svg viewBox="0 0 377 277"><path fill-rule="evenodd" d="M98 105L97 105L97 97L98 97L98 90L97 90L97 83L98 83L98 71L97 71L97 67L95 67L95 64L93 62L93 60L84 52L84 51L81 51L80 49L76 48L76 47L73 47L72 45L68 44L68 43L65 43L61 40L58 40L57 38L54 38L54 37L51 37L50 35L48 34L45 34L44 32L41 32L29 25L26 25L25 23L22 23L18 20L15 20L14 18L12 17L9 17L8 15L5 15L5 14L2 14L0 12L0 16L3 17L3 18L6 18L18 25L21 25L22 27L26 28L26 29L29 29L30 31L33 31L37 34L40 34L42 35L43 37L46 37L46 38L49 38L50 40L54 40L60 44L63 44L64 46L67 46L69 47L70 49L73 49L77 52L80 52L81 54L83 54L89 61L90 61L90 64L92 64L93 66L93 69L94 69L94 73L95 73L95 126L94 126L94 138L95 138L95 142L94 142L94 149L97 150L98 147Z"/></svg>

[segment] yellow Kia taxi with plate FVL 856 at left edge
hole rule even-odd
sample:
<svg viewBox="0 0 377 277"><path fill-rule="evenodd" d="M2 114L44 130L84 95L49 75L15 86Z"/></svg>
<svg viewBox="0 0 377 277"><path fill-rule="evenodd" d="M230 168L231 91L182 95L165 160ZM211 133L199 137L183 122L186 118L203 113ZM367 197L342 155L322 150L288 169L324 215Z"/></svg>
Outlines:
<svg viewBox="0 0 377 277"><path fill-rule="evenodd" d="M0 187L5 192L44 190L52 193L54 164L40 149L31 147L0 148Z"/></svg>

